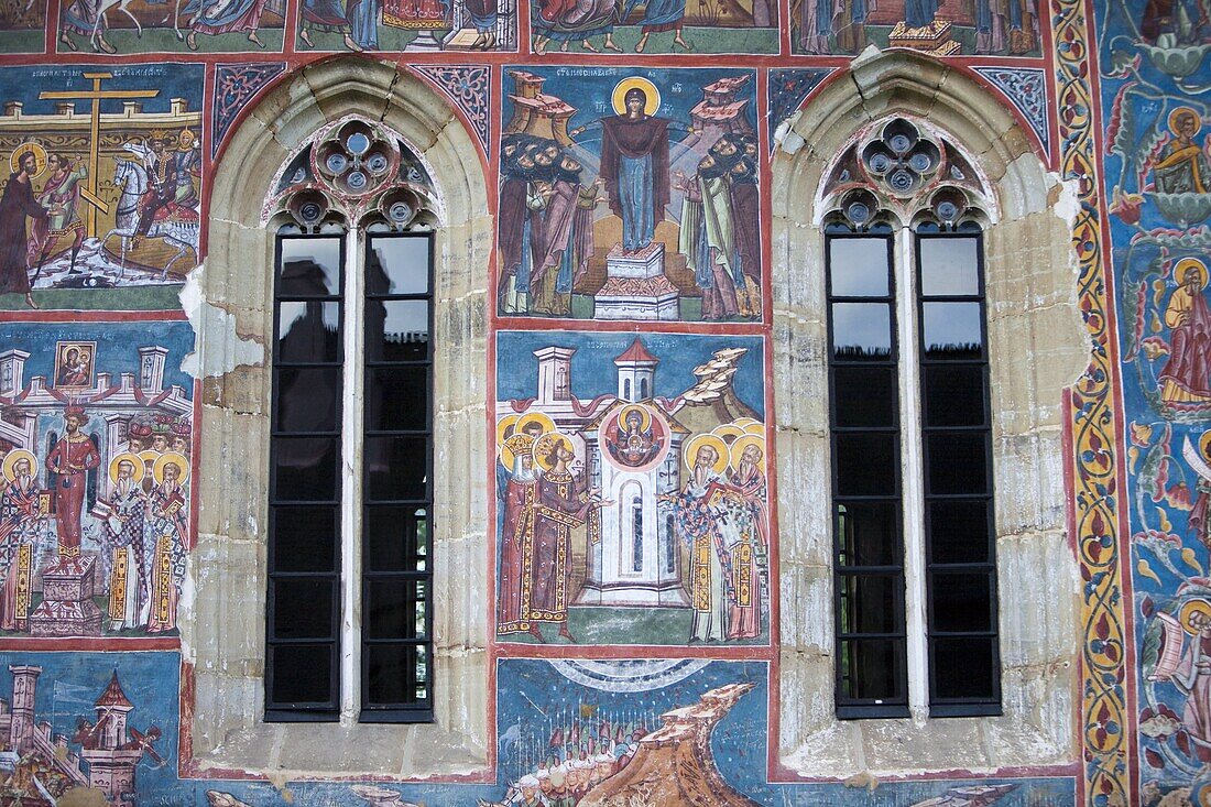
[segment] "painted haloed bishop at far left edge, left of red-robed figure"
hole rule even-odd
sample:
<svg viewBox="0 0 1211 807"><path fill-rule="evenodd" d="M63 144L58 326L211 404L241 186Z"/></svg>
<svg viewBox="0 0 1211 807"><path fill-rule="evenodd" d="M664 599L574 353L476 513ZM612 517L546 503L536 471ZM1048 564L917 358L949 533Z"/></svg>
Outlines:
<svg viewBox="0 0 1211 807"><path fill-rule="evenodd" d="M28 628L33 595L34 554L38 549L39 490L34 454L18 448L4 460L4 493L0 496L0 629Z"/></svg>

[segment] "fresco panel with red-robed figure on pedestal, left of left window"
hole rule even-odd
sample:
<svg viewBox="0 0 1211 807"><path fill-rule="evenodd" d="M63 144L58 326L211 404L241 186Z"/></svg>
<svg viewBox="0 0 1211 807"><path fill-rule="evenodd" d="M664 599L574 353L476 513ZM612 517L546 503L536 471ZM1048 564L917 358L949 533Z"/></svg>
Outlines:
<svg viewBox="0 0 1211 807"><path fill-rule="evenodd" d="M0 636L176 635L191 546L179 321L11 322L0 343Z"/></svg>

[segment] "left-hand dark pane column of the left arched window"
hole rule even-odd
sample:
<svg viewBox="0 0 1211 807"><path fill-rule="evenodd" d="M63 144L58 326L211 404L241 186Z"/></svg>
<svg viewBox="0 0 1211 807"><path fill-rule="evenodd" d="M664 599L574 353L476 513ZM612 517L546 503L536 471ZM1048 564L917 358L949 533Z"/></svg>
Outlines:
<svg viewBox="0 0 1211 807"><path fill-rule="evenodd" d="M335 720L344 239L279 236L275 279L266 717Z"/></svg>

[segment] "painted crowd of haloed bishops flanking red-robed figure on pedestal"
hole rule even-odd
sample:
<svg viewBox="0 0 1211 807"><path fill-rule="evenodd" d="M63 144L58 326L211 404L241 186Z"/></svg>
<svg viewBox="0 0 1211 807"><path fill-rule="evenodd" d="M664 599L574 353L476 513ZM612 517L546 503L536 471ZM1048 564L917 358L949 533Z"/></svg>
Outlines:
<svg viewBox="0 0 1211 807"><path fill-rule="evenodd" d="M174 630L189 536L190 424L163 416L133 420L103 469L97 437L85 431L88 420L82 407L67 406L62 436L44 463L27 448L4 454L0 629L30 629L41 559L48 557L45 578L65 565L79 572L94 557L93 595L104 599L110 630ZM107 471L108 483L99 483ZM86 537L96 549L84 549Z"/></svg>

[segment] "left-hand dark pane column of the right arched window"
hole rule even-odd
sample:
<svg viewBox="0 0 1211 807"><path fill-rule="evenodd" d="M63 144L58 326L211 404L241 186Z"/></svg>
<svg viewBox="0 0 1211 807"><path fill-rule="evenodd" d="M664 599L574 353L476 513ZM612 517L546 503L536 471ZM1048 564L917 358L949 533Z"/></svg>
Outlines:
<svg viewBox="0 0 1211 807"><path fill-rule="evenodd" d="M908 691L891 239L830 235L826 252L837 715L901 716ZM883 393L878 400L869 385Z"/></svg>

